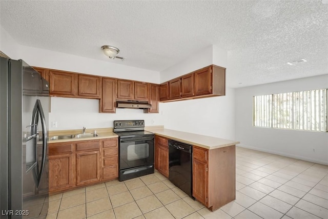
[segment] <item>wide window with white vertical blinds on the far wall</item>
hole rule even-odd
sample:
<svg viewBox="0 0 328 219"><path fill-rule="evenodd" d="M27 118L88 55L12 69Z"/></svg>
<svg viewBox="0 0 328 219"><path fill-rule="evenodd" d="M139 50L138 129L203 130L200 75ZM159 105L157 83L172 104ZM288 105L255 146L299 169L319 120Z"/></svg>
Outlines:
<svg viewBox="0 0 328 219"><path fill-rule="evenodd" d="M327 89L254 96L253 126L327 131Z"/></svg>

